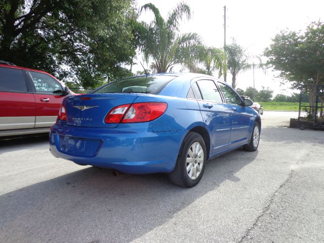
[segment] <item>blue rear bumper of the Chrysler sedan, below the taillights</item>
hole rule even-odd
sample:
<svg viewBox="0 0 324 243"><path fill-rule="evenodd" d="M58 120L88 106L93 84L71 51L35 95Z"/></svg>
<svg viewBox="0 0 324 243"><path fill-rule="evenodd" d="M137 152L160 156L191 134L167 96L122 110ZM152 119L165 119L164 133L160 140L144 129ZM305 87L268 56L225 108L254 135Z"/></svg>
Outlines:
<svg viewBox="0 0 324 243"><path fill-rule="evenodd" d="M171 172L186 131L152 132L150 124L115 129L54 125L50 150L79 165L115 169L129 174Z"/></svg>

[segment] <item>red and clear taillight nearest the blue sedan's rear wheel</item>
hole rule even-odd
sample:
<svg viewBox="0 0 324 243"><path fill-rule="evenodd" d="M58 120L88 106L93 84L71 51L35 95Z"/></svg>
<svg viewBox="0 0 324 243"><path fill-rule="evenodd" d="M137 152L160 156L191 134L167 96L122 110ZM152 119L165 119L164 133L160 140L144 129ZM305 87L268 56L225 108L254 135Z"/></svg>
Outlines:
<svg viewBox="0 0 324 243"><path fill-rule="evenodd" d="M164 102L120 105L108 113L105 123L144 123L160 117L167 107L167 103Z"/></svg>

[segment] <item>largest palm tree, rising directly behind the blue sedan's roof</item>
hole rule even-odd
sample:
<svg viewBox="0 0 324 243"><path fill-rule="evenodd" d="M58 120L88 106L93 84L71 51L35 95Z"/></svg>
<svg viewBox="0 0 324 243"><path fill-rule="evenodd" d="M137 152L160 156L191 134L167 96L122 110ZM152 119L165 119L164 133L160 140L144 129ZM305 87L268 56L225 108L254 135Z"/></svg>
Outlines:
<svg viewBox="0 0 324 243"><path fill-rule="evenodd" d="M179 34L179 20L190 19L190 8L180 3L169 13L168 19L161 17L159 10L151 3L141 7L154 14L154 20L142 22L144 30L140 33L140 50L148 63L153 59L151 68L156 72L170 72L176 64L192 63L198 53L200 37L196 33Z"/></svg>

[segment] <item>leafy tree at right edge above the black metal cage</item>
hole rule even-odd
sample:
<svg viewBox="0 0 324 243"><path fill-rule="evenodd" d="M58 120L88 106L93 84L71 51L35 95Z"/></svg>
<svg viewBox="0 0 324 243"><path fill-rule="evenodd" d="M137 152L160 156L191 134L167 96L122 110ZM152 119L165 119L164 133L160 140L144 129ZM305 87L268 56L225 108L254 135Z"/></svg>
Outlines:
<svg viewBox="0 0 324 243"><path fill-rule="evenodd" d="M301 85L324 84L324 23L313 22L304 33L281 31L272 39L264 55L269 58L267 66L279 71L279 77ZM310 105L315 102L316 89L310 88ZM314 109L311 111L314 114Z"/></svg>

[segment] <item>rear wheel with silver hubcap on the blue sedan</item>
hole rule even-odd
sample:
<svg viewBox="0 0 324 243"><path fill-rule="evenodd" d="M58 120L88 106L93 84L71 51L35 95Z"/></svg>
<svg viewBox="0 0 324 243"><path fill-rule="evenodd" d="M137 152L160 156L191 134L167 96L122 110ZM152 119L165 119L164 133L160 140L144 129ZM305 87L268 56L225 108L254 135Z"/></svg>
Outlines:
<svg viewBox="0 0 324 243"><path fill-rule="evenodd" d="M206 145L203 137L189 132L184 138L176 166L169 174L172 183L182 187L193 187L203 177L206 165Z"/></svg>

